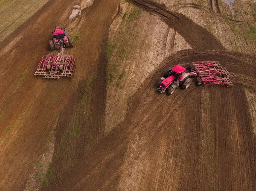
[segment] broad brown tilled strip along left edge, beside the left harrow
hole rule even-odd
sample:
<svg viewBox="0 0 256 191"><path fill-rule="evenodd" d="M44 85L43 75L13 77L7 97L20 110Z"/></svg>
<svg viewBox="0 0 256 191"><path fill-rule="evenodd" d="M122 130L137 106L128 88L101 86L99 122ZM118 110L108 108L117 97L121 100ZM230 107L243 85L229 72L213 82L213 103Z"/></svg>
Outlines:
<svg viewBox="0 0 256 191"><path fill-rule="evenodd" d="M0 63L0 73L3 74L0 80L4 83L0 85L0 134L6 137L0 146L1 190L25 188L38 156L45 152L46 137L52 131L62 106L61 100L65 100L72 89L69 80L64 80L63 87L56 85L56 81L33 75L41 57L49 53L47 42L51 30L62 16L56 9L65 11L71 8L71 3L69 0L49 1L1 43L0 52L4 59ZM22 36L15 42L15 47L5 53L4 50L12 45L13 37L19 37L19 34ZM54 100L54 95L58 99ZM7 134L9 126L12 129Z"/></svg>

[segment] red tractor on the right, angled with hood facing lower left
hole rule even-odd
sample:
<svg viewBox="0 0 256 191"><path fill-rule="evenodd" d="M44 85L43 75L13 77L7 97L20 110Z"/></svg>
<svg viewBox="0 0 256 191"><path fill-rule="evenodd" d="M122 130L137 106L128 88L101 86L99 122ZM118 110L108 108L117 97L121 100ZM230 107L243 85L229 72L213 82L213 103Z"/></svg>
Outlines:
<svg viewBox="0 0 256 191"><path fill-rule="evenodd" d="M167 94L171 95L178 87L183 89L188 88L192 83L192 79L189 78L189 75L185 71L186 68L180 65L176 65L172 69L167 69L164 77L161 77L157 83L157 90L160 93L167 91Z"/></svg>

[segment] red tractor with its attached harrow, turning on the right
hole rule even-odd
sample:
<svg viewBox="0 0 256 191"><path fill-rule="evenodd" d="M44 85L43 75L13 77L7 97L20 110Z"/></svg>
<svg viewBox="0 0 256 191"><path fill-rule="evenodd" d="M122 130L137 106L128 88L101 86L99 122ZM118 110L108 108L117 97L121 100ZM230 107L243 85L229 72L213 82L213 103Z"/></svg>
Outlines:
<svg viewBox="0 0 256 191"><path fill-rule="evenodd" d="M161 77L157 83L157 91L171 95L176 88L188 88L193 79L197 85L224 85L227 87L233 86L230 80L230 74L226 68L221 67L217 61L201 61L192 62L193 65L189 67L190 73L186 73L186 68L176 65L173 68L168 68L164 77Z"/></svg>

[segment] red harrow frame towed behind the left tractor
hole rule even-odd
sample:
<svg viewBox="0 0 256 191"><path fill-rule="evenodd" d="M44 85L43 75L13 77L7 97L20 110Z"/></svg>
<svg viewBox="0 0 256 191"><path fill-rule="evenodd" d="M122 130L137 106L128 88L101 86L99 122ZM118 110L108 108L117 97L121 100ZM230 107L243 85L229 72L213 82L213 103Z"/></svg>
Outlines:
<svg viewBox="0 0 256 191"><path fill-rule="evenodd" d="M62 54L63 50L58 55L43 56L34 75L44 76L47 79L72 77L76 57Z"/></svg>

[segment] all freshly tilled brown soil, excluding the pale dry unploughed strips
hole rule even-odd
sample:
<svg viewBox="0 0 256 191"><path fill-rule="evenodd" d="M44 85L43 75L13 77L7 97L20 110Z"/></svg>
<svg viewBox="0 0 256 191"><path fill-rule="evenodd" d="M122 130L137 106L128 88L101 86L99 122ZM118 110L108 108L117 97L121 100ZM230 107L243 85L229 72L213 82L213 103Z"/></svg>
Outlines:
<svg viewBox="0 0 256 191"><path fill-rule="evenodd" d="M256 57L224 50L213 34L163 5L132 2L159 15L194 50L167 57L148 74L125 120L106 136L106 48L119 0L95 0L82 12L79 40L68 50L76 56L72 79L33 76L62 17L55 10L71 9L69 0L49 1L3 41L1 52L25 31L0 67L1 190L25 188L58 116L52 178L44 190L256 190L256 142L244 92L254 86ZM156 92L165 68L195 60L227 66L234 86Z"/></svg>

